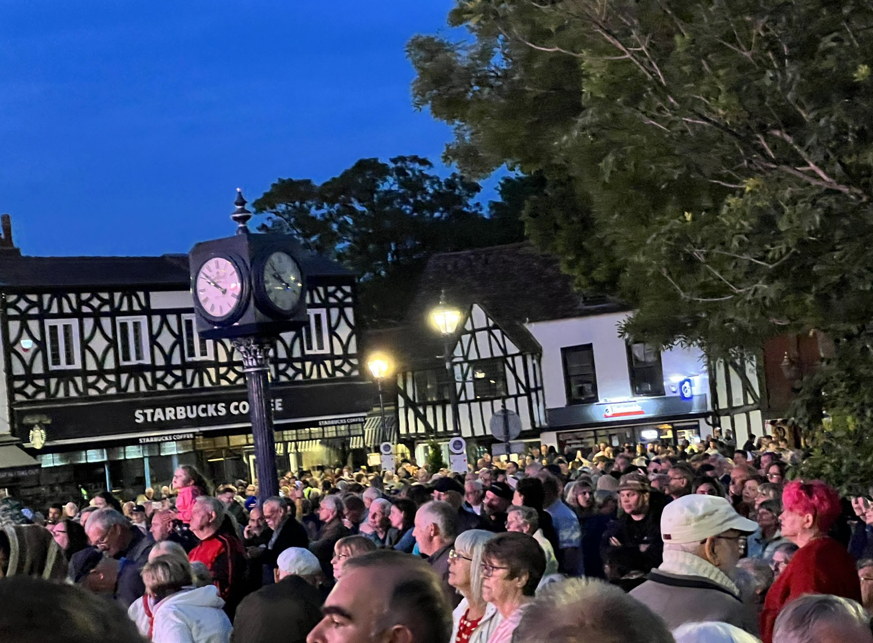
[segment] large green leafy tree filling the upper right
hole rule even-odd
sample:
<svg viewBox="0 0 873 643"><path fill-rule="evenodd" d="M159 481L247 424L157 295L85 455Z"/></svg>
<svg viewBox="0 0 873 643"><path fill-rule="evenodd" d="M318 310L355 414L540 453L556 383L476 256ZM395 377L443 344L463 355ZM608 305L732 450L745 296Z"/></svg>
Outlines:
<svg viewBox="0 0 873 643"><path fill-rule="evenodd" d="M408 45L447 161L539 174L530 236L635 304L631 335L725 358L827 332L794 413L873 429L852 380L873 376L873 5L458 0L449 20L469 38Z"/></svg>

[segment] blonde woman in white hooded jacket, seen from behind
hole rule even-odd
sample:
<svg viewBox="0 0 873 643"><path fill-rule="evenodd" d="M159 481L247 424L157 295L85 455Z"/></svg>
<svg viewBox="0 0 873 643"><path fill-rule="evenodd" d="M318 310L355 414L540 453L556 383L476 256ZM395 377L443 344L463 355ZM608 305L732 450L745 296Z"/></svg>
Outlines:
<svg viewBox="0 0 873 643"><path fill-rule="evenodd" d="M152 643L229 643L230 619L215 585L194 587L191 565L172 554L142 568L146 593L127 611Z"/></svg>

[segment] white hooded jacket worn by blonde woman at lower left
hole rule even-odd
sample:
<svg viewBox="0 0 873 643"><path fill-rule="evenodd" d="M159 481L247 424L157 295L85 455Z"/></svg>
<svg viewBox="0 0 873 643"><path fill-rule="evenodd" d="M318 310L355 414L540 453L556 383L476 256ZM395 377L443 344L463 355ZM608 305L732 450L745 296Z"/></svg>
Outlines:
<svg viewBox="0 0 873 643"><path fill-rule="evenodd" d="M152 605L153 643L230 643L230 619L215 585L184 589ZM149 619L142 600L127 610L143 636L148 637Z"/></svg>

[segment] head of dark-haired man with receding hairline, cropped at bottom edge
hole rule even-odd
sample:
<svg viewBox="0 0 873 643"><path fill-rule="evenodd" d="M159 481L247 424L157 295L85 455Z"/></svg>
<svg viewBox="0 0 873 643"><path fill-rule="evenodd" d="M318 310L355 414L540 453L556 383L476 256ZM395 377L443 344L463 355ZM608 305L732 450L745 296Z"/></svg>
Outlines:
<svg viewBox="0 0 873 643"><path fill-rule="evenodd" d="M324 617L307 643L446 643L451 638L451 607L440 578L424 561L397 551L349 559L321 612Z"/></svg>

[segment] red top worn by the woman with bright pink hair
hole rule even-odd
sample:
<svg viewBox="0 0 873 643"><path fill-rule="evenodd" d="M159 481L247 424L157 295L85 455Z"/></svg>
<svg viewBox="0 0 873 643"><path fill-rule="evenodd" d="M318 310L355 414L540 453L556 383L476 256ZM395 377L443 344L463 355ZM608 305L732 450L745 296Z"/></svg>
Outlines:
<svg viewBox="0 0 873 643"><path fill-rule="evenodd" d="M803 594L834 594L861 602L855 559L833 538L817 538L801 547L766 592L760 617L764 643L773 643L773 623L782 608Z"/></svg>

